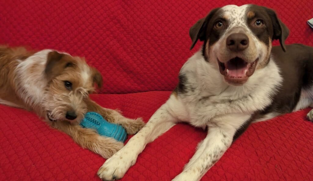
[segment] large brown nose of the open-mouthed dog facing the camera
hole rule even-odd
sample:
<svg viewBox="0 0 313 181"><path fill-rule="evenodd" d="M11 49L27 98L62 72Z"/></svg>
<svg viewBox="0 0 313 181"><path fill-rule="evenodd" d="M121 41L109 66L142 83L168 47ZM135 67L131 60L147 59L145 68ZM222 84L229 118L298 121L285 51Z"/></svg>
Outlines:
<svg viewBox="0 0 313 181"><path fill-rule="evenodd" d="M244 33L233 33L227 37L226 46L233 52L243 51L249 47L249 38Z"/></svg>

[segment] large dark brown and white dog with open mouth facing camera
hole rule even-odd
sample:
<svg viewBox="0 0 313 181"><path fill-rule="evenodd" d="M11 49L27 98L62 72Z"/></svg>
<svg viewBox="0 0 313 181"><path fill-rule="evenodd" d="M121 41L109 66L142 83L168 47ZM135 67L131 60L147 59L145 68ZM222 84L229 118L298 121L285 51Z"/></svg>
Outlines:
<svg viewBox="0 0 313 181"><path fill-rule="evenodd" d="M123 177L147 143L188 122L207 127L208 135L173 181L198 181L251 122L308 107L313 103L313 48L285 46L288 34L271 9L213 9L190 29L191 48L198 40L204 43L183 65L177 88L146 126L106 160L99 177ZM272 48L276 39L280 47Z"/></svg>

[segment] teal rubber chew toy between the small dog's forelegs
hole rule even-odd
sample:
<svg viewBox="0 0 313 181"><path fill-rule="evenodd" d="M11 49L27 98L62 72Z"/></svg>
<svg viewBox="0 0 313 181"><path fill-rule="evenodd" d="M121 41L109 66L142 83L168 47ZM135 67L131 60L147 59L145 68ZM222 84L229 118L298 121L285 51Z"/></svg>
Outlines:
<svg viewBox="0 0 313 181"><path fill-rule="evenodd" d="M95 129L101 136L111 137L123 143L127 139L125 128L119 124L107 122L100 114L95 112L86 113L80 125L83 128Z"/></svg>

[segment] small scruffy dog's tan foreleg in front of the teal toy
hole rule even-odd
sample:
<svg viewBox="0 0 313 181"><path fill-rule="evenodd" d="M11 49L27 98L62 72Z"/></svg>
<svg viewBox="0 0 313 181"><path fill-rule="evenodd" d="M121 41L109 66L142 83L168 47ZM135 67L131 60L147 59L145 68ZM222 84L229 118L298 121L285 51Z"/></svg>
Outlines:
<svg viewBox="0 0 313 181"><path fill-rule="evenodd" d="M98 153L104 158L110 158L124 146L122 142L113 138L100 136L93 129L72 125L68 121L53 122L51 126L69 134L81 147Z"/></svg>

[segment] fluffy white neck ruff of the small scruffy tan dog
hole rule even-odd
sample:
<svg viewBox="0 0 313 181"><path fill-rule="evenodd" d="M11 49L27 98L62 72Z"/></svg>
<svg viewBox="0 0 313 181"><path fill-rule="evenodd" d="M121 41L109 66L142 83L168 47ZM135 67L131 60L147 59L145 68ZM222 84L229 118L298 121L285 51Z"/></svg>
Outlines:
<svg viewBox="0 0 313 181"><path fill-rule="evenodd" d="M15 69L15 84L18 95L28 107L41 107L45 98L47 80L44 76L44 69L47 55L52 50L42 50L20 61ZM35 110L41 112L42 110Z"/></svg>

